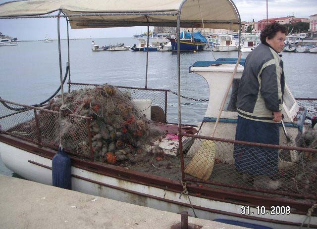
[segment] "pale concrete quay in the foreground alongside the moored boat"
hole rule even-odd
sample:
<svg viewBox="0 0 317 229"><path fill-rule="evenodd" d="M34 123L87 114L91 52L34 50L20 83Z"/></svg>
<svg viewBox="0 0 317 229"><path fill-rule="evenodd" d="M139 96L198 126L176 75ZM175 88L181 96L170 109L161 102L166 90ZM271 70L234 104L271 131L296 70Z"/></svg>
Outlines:
<svg viewBox="0 0 317 229"><path fill-rule="evenodd" d="M179 214L0 175L0 229L171 229ZM189 229L244 229L188 217ZM180 229L180 227L179 227Z"/></svg>

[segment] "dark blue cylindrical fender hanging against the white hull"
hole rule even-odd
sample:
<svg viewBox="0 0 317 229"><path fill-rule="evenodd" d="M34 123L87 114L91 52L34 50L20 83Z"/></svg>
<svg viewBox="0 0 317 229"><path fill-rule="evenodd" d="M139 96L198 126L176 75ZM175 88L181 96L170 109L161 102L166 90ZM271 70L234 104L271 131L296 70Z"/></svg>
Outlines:
<svg viewBox="0 0 317 229"><path fill-rule="evenodd" d="M62 147L58 148L52 160L53 186L71 190L71 163Z"/></svg>

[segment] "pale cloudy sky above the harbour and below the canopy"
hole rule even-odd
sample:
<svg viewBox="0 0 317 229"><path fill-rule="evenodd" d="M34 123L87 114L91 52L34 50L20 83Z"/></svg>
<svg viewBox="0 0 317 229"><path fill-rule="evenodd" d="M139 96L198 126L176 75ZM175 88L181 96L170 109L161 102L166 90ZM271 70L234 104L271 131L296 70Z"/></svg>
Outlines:
<svg viewBox="0 0 317 229"><path fill-rule="evenodd" d="M9 0L0 0L0 3ZM266 18L266 0L233 0L240 13L241 21ZM268 0L268 18L294 15L297 18L317 14L317 0ZM64 24L63 24L64 23ZM61 38L67 36L66 22L61 19ZM70 38L120 38L132 37L147 31L147 27L70 29ZM47 19L1 19L0 32L18 40L57 39L56 18Z"/></svg>

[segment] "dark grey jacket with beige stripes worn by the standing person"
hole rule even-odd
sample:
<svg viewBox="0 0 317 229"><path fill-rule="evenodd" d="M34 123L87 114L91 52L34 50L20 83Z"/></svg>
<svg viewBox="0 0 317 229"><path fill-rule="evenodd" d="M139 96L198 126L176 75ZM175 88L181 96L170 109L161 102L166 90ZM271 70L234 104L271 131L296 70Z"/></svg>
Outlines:
<svg viewBox="0 0 317 229"><path fill-rule="evenodd" d="M284 82L281 57L267 44L257 46L245 61L238 90L238 115L273 122L273 111L282 110Z"/></svg>

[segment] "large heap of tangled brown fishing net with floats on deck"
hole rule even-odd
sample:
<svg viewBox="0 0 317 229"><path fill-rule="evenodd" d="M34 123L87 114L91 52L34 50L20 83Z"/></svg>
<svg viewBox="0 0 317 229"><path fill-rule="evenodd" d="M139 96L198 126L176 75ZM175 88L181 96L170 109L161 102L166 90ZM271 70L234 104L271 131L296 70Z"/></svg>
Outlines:
<svg viewBox="0 0 317 229"><path fill-rule="evenodd" d="M62 146L70 152L89 156L87 124L84 119L71 118L67 114L92 117L90 133L94 160L115 164L129 159L142 150L150 137L150 121L141 114L129 93L120 92L107 84L85 88L64 94L61 130L56 130L55 141L61 138ZM61 97L49 102L48 109L59 111ZM156 133L157 135L158 133ZM165 133L159 133L164 135Z"/></svg>

